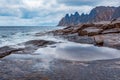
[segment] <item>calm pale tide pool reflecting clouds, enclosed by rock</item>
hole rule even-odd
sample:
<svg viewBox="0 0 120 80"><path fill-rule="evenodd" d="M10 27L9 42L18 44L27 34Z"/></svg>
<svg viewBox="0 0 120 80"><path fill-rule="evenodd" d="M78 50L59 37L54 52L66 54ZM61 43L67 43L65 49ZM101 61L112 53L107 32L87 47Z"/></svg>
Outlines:
<svg viewBox="0 0 120 80"><path fill-rule="evenodd" d="M52 45L53 46L53 45ZM52 55L54 58L74 61L92 61L120 58L120 50L96 47L89 44L66 42L40 48L35 53ZM56 46L56 47L55 47Z"/></svg>

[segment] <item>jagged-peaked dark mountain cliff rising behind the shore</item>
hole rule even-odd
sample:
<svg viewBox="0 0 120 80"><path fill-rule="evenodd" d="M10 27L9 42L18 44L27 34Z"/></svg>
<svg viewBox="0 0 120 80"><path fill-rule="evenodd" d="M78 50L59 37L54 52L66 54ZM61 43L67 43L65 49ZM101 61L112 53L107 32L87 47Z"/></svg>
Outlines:
<svg viewBox="0 0 120 80"><path fill-rule="evenodd" d="M112 19L119 18L119 13L120 7L99 6L93 8L89 14L82 13L79 15L78 12L71 15L66 14L66 16L61 19L58 26L76 25L87 22L110 21Z"/></svg>

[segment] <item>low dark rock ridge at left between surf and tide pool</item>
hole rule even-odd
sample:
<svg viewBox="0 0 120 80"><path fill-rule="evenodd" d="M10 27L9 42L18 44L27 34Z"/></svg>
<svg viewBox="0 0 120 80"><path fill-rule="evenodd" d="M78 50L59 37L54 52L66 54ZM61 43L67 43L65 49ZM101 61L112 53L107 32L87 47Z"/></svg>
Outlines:
<svg viewBox="0 0 120 80"><path fill-rule="evenodd" d="M47 45L55 44L53 41L46 40L31 40L18 45L25 45L24 48L12 48L10 46L4 46L0 48L0 58L3 58L10 54L32 54L40 47L46 47ZM14 46L14 45L12 45Z"/></svg>

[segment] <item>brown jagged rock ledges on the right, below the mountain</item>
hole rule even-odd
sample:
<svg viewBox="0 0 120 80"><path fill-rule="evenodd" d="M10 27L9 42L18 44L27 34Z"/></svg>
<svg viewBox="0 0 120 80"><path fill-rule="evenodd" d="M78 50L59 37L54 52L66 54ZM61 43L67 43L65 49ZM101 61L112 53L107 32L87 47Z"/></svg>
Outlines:
<svg viewBox="0 0 120 80"><path fill-rule="evenodd" d="M86 23L68 26L52 31L54 36L60 36L77 43L94 44L120 49L120 21Z"/></svg>

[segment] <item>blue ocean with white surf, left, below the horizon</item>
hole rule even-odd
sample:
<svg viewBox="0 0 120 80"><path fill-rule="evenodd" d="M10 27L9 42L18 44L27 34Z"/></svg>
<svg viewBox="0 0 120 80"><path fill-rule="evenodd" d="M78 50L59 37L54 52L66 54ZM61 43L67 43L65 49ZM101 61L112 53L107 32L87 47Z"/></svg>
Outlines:
<svg viewBox="0 0 120 80"><path fill-rule="evenodd" d="M56 26L1 26L0 27L0 47L15 45L28 40L37 39L34 36L38 32L46 32L61 27Z"/></svg>

